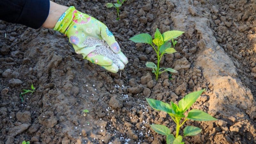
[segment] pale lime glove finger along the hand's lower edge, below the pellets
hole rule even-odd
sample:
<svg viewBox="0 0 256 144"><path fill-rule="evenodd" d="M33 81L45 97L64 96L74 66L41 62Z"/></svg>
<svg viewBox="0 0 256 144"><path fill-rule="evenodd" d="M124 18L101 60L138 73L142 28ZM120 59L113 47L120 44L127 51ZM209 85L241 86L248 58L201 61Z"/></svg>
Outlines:
<svg viewBox="0 0 256 144"><path fill-rule="evenodd" d="M92 63L100 66L111 66L113 64L113 61L111 59L104 57L103 55L96 54L94 52L89 53L86 56L86 60L89 60Z"/></svg>

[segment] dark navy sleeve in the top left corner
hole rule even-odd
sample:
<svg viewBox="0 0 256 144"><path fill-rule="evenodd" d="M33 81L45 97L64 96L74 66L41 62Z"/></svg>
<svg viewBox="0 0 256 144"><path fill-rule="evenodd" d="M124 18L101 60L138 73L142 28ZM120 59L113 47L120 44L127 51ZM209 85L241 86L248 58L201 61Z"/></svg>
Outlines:
<svg viewBox="0 0 256 144"><path fill-rule="evenodd" d="M49 0L1 0L0 20L40 28L47 19Z"/></svg>

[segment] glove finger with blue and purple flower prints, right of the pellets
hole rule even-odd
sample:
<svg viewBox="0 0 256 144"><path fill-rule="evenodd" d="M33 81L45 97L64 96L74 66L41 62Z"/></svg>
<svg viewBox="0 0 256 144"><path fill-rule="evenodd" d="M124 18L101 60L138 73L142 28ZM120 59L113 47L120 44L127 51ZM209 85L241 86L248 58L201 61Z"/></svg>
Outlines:
<svg viewBox="0 0 256 144"><path fill-rule="evenodd" d="M121 51L119 44L115 40L115 36L108 30L108 27L104 24L102 24L101 26L100 35L103 40L107 42L113 52L118 53Z"/></svg>

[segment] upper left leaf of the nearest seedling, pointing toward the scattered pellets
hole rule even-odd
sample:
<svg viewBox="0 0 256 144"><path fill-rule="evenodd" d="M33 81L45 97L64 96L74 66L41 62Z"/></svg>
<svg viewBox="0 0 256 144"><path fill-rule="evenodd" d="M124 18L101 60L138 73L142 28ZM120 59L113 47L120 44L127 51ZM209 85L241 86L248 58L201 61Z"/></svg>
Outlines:
<svg viewBox="0 0 256 144"><path fill-rule="evenodd" d="M172 108L168 103L148 98L146 100L148 101L148 104L155 110L162 110L166 113L173 113Z"/></svg>

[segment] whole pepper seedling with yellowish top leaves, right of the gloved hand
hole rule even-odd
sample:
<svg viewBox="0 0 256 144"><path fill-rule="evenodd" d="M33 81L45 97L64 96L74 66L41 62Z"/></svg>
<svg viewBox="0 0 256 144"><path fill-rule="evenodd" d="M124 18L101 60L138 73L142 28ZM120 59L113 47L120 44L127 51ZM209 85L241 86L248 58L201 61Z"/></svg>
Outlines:
<svg viewBox="0 0 256 144"><path fill-rule="evenodd" d="M158 76L165 72L169 71L172 73L177 73L175 69L172 68L159 68L160 65L160 60L162 59L163 55L165 53L171 54L176 52L176 50L173 48L175 47L175 44L177 44L177 41L173 41L174 38L177 38L178 36L182 35L184 32L183 31L178 31L178 30L171 30L171 31L166 31L163 34L160 33L158 28L156 28L155 32L155 39L152 39L152 36L149 34L143 33L139 34L136 36L133 36L130 38L131 41L135 43L147 43L153 47L157 54L157 65L153 62L147 62L146 66L148 68L152 68L152 73L156 75L156 80L158 80ZM172 40L172 44L169 42ZM157 48L153 45L153 43L157 46ZM173 47L171 47L173 45Z"/></svg>

